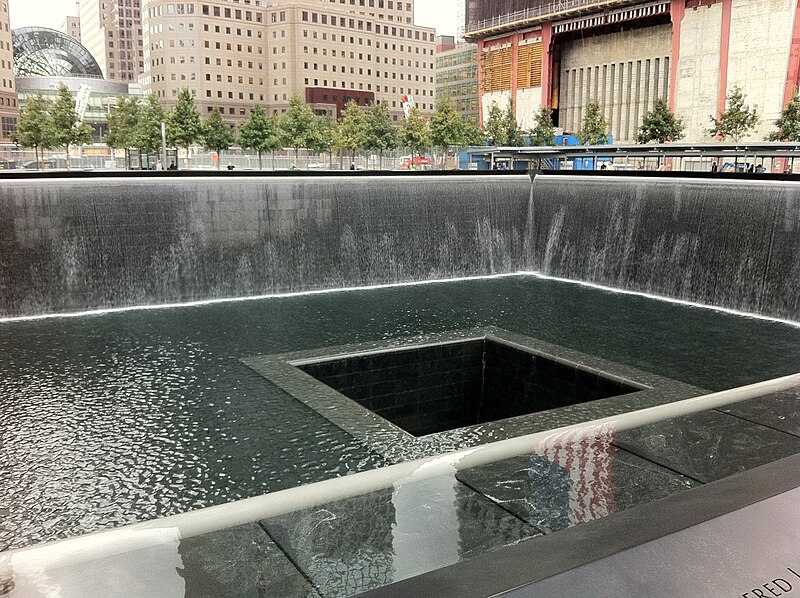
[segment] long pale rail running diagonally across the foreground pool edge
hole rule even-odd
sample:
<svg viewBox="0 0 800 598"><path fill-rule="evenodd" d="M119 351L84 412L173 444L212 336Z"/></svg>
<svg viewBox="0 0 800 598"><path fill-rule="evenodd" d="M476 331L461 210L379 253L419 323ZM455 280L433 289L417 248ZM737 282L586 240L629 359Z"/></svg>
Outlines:
<svg viewBox="0 0 800 598"><path fill-rule="evenodd" d="M109 531L8 551L0 553L0 565L5 563L12 567L42 566L55 570L59 567L104 558L110 554L121 554L147 546L176 542L181 538L228 529L369 492L397 488L403 484L434 476L452 475L456 470L529 455L545 447L561 446L565 443L579 442L587 437L613 434L797 386L800 386L800 373L591 422L509 438L453 453L397 463Z"/></svg>

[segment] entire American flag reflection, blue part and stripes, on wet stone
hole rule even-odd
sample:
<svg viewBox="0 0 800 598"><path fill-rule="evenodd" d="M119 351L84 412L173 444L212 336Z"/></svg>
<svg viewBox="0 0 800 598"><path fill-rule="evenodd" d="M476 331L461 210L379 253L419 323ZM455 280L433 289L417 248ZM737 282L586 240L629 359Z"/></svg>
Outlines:
<svg viewBox="0 0 800 598"><path fill-rule="evenodd" d="M585 433L583 433L585 434ZM553 521L551 529L606 517L615 511L611 426L593 434L557 434L530 457L529 503Z"/></svg>

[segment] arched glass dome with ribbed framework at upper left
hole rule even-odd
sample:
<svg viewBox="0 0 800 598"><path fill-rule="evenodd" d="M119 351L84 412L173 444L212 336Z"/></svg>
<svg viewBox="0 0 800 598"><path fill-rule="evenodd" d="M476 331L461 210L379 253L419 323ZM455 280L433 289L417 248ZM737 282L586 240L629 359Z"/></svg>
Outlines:
<svg viewBox="0 0 800 598"><path fill-rule="evenodd" d="M21 27L11 36L17 77L103 78L91 52L65 33L46 27Z"/></svg>

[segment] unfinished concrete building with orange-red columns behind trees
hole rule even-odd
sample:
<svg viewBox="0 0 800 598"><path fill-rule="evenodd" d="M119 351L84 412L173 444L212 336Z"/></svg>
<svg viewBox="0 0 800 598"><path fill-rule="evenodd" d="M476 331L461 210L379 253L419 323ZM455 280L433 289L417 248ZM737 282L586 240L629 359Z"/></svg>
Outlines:
<svg viewBox="0 0 800 598"><path fill-rule="evenodd" d="M467 0L478 44L481 114L513 102L523 127L541 106L580 127L596 100L616 140L635 141L658 98L686 140L711 140L710 117L733 87L758 109L763 139L800 73L798 0Z"/></svg>

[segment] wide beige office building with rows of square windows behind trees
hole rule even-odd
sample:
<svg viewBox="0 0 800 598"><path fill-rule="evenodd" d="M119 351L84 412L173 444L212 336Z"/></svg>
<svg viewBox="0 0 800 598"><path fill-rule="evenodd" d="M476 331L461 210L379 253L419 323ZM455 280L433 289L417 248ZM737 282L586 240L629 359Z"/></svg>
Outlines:
<svg viewBox="0 0 800 598"><path fill-rule="evenodd" d="M294 93L318 114L381 101L399 122L404 96L433 112L434 31L414 25L413 0L143 0L142 13L142 83L166 105L185 86L231 122Z"/></svg>

